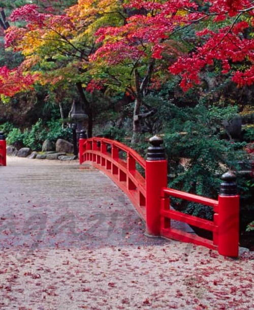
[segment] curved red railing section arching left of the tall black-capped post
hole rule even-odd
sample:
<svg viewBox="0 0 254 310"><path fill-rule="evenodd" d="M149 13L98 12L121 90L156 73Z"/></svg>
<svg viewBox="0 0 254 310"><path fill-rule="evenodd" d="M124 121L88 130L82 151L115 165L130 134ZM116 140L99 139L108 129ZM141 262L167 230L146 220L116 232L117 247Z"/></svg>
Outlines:
<svg viewBox="0 0 254 310"><path fill-rule="evenodd" d="M107 150L111 146L111 152ZM119 158L119 150L126 160ZM130 198L141 218L146 218L146 181L137 170L139 164L145 171L145 160L132 148L114 140L101 137L79 140L79 161L89 162L108 175Z"/></svg>

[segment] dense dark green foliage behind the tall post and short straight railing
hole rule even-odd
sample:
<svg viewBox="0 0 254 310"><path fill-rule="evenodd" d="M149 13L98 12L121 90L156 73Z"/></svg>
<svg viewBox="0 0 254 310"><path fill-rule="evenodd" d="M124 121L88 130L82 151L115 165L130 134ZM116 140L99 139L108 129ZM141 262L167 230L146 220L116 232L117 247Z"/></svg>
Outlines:
<svg viewBox="0 0 254 310"><path fill-rule="evenodd" d="M150 105L156 106L158 115L150 122L152 129L160 129L163 133L169 169L169 187L198 195L217 198L220 176L231 169L242 170L245 164L251 170L246 142L230 141L221 126L224 119L232 119L237 107L218 108L197 104L195 107L178 107L165 100L163 93L148 98ZM148 124L146 123L146 126ZM147 128L148 129L148 128ZM156 131L155 131L156 132ZM149 135L144 135L149 137ZM147 143L137 147L145 154ZM253 179L237 175L238 189L241 194L242 207L250 207L254 211L250 187ZM189 214L212 219L212 210L195 203L184 203L172 199L176 208Z"/></svg>

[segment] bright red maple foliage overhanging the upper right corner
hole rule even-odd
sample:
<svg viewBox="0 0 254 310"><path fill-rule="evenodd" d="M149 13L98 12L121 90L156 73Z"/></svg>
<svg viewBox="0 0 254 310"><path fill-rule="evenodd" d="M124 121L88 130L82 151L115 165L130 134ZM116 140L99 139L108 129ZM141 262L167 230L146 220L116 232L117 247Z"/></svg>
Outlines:
<svg viewBox="0 0 254 310"><path fill-rule="evenodd" d="M254 83L254 40L248 35L253 27L251 1L131 0L126 7L143 13L128 18L123 26L101 28L97 32L98 42L104 44L93 59L100 57L115 65L123 59L147 57L148 44L151 57L162 58L163 53L172 53L167 41L182 29L192 27L196 31L194 51L185 55L174 51L178 59L169 64L170 72L181 76L184 90L199 84L200 72L206 67L212 70L215 60L217 68L221 66L221 73L230 73L239 86ZM199 27L195 27L197 24Z"/></svg>

